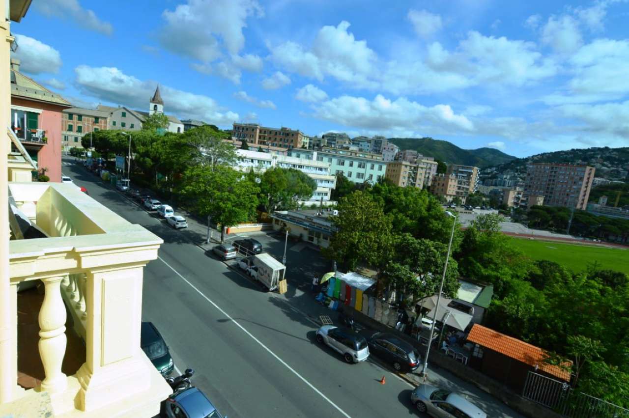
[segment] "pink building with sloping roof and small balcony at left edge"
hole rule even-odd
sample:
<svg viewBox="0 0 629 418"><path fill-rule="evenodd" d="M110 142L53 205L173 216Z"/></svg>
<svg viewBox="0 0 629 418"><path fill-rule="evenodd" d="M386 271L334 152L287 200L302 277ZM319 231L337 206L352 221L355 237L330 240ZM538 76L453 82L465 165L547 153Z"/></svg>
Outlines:
<svg viewBox="0 0 629 418"><path fill-rule="evenodd" d="M4 61L3 65L8 63L9 60ZM5 126L11 126L11 131L36 162L40 173L47 175L52 182L60 182L62 112L72 104L21 74L19 60L11 58L9 71L11 109L7 115L11 116L11 121Z"/></svg>

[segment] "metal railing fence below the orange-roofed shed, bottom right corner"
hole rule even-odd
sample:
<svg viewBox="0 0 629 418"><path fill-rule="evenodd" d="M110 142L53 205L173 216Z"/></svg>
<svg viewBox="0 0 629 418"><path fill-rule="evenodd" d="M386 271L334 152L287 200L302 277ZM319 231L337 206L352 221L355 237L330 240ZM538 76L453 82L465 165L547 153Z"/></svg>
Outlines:
<svg viewBox="0 0 629 418"><path fill-rule="evenodd" d="M569 418L629 418L629 409L611 404L570 385L529 371L522 396Z"/></svg>

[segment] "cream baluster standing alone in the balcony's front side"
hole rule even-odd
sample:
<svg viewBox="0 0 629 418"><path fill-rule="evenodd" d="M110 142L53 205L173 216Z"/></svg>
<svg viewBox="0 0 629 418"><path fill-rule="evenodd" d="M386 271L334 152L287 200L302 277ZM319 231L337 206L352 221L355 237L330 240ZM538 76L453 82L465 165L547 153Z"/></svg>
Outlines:
<svg viewBox="0 0 629 418"><path fill-rule="evenodd" d="M65 305L61 298L62 277L42 279L45 294L39 314L39 351L46 377L42 380L42 390L49 393L63 392L67 378L61 371L65 356Z"/></svg>

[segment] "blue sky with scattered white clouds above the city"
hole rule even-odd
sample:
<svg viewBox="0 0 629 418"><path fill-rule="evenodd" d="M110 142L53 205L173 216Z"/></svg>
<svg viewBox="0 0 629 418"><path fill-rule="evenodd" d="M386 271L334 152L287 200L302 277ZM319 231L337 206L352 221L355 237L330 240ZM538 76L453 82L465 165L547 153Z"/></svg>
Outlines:
<svg viewBox="0 0 629 418"><path fill-rule="evenodd" d="M386 6L384 6L386 4ZM626 0L35 0L23 72L76 106L523 157L629 146Z"/></svg>

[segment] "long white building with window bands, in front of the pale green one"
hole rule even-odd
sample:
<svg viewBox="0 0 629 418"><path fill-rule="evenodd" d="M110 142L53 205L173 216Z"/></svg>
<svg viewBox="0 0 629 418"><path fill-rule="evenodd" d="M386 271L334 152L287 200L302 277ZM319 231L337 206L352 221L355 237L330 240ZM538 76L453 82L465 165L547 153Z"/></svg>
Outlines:
<svg viewBox="0 0 629 418"><path fill-rule="evenodd" d="M320 161L307 161L296 157L287 157L267 152L236 150L238 154L237 170L264 172L267 168L294 168L315 180L315 193L306 202L329 202L332 190L337 185L337 177L330 175L330 164Z"/></svg>

